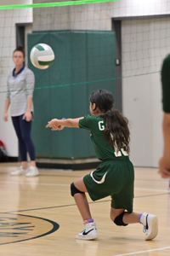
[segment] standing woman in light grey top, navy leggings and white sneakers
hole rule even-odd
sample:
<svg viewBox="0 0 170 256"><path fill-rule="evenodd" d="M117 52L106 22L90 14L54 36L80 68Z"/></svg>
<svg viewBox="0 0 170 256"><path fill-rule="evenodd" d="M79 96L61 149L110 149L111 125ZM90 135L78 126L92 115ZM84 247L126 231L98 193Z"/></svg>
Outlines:
<svg viewBox="0 0 170 256"><path fill-rule="evenodd" d="M35 77L32 71L24 66L25 52L17 47L13 53L14 70L9 73L7 85L8 92L5 101L3 120L8 121L8 106L11 105L14 130L19 139L21 166L11 175L26 175L26 177L39 174L35 161L35 148L31 141L31 119L33 114L33 90ZM30 155L31 166L27 168L27 152Z"/></svg>

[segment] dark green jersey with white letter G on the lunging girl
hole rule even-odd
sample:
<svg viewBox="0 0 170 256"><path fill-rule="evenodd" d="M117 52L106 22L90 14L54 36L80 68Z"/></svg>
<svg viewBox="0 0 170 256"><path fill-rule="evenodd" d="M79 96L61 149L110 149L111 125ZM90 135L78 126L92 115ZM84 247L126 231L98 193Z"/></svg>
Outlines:
<svg viewBox="0 0 170 256"><path fill-rule="evenodd" d="M115 148L106 141L104 137L105 119L100 116L88 115L79 120L79 127L90 131L94 151L99 160L128 159L128 154L123 148L116 153Z"/></svg>

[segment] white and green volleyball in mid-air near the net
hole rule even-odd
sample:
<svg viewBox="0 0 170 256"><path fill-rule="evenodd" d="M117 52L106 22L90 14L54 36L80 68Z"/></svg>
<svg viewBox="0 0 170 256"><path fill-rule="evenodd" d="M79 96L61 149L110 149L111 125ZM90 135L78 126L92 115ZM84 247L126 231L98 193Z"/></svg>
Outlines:
<svg viewBox="0 0 170 256"><path fill-rule="evenodd" d="M46 69L51 66L54 58L54 51L48 44L36 44L31 49L31 63L39 69Z"/></svg>

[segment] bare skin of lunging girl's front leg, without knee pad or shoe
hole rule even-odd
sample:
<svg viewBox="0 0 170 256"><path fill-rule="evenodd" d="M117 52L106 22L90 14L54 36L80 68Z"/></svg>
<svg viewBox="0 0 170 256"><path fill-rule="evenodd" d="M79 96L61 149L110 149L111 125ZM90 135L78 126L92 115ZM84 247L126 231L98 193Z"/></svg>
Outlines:
<svg viewBox="0 0 170 256"><path fill-rule="evenodd" d="M75 181L74 184L78 190L80 190L82 192L87 192L87 189L83 182L83 177L77 179L77 181ZM82 219L86 220L88 218L92 218L86 195L82 194L82 193L77 193L74 195L74 199L77 203L78 210L82 215Z"/></svg>

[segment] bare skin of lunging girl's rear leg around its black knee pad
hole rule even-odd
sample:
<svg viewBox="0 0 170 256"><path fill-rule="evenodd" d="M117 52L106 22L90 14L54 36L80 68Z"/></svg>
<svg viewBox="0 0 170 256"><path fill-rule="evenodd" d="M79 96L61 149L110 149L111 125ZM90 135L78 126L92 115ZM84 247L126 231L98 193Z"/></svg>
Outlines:
<svg viewBox="0 0 170 256"><path fill-rule="evenodd" d="M111 220L114 221L116 216L120 215L122 212L124 212L125 209L114 209L111 207ZM122 221L125 224L133 224L133 223L139 223L139 213L136 212L125 212Z"/></svg>

